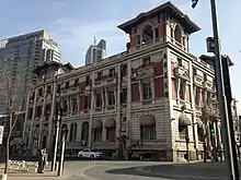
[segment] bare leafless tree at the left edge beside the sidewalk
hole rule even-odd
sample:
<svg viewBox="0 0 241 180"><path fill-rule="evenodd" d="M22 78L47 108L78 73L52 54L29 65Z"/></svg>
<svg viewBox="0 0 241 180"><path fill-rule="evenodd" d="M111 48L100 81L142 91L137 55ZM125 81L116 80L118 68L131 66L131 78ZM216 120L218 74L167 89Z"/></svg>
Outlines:
<svg viewBox="0 0 241 180"><path fill-rule="evenodd" d="M10 151L10 137L11 133L18 121L18 113L22 109L22 103L18 104L18 94L21 93L21 79L22 75L16 74L14 71L11 71L9 65L11 62L3 62L0 67L0 91L5 97L5 113L7 113L7 125L8 125L8 135L5 144L5 167L4 173L8 175L9 170L9 151ZM15 73L15 74L14 74ZM21 100L22 101L22 100ZM18 108L19 107L19 108Z"/></svg>

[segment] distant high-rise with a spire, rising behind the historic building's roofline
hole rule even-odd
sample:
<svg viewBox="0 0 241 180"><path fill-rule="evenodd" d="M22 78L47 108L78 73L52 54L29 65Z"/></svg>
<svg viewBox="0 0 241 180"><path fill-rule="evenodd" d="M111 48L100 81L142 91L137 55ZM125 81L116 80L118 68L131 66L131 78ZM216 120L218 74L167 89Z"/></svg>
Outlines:
<svg viewBox="0 0 241 180"><path fill-rule="evenodd" d="M101 39L101 41L96 45L95 38L94 44L89 47L85 55L85 65L89 65L93 62L100 62L105 58L106 53L106 41Z"/></svg>

